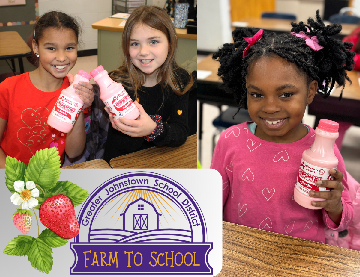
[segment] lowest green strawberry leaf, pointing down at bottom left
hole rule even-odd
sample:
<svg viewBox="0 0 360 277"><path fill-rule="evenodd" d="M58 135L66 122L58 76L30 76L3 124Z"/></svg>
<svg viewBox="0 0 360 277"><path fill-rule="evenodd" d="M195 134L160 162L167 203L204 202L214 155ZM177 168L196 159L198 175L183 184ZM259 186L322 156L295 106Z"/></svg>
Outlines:
<svg viewBox="0 0 360 277"><path fill-rule="evenodd" d="M28 258L33 268L45 273L53 269L53 250L44 241L37 238L32 241Z"/></svg>

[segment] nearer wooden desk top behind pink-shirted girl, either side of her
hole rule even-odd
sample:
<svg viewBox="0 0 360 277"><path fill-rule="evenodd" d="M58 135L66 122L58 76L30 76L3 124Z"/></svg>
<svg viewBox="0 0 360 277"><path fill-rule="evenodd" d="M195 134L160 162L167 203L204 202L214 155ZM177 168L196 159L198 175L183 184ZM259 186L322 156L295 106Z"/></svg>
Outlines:
<svg viewBox="0 0 360 277"><path fill-rule="evenodd" d="M213 60L211 56L212 55L208 55L205 59L198 63L197 69L212 71L212 74L210 76L203 79L204 81L221 83L222 81L219 79L219 76L217 76L217 70L219 69L220 63L219 61ZM346 82L342 97L353 100L360 100L360 85L358 81L358 78L360 78L360 76L358 75L358 71L348 71L347 74L350 77L352 84L350 84L350 82L348 81ZM341 89L342 88L335 88L335 91L331 94L330 97L339 97Z"/></svg>

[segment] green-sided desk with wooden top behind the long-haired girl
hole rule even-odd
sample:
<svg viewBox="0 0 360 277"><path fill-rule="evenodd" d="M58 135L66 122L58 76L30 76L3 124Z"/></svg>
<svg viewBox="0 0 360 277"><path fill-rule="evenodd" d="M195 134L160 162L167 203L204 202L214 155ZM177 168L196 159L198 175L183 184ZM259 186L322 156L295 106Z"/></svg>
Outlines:
<svg viewBox="0 0 360 277"><path fill-rule="evenodd" d="M118 68L123 62L121 38L124 27L119 27L119 24L124 20L107 17L91 24L93 29L98 29L98 65L102 65L108 72ZM176 62L182 64L196 55L197 35L177 28L176 35L179 42Z"/></svg>

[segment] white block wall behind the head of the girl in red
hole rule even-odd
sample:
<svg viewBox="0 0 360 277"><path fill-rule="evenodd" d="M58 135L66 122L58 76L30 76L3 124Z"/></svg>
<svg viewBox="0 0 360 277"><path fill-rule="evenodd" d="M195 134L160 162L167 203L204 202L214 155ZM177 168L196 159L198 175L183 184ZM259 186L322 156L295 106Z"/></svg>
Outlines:
<svg viewBox="0 0 360 277"><path fill-rule="evenodd" d="M57 10L81 19L82 44L79 50L98 48L98 30L91 27L101 19L111 16L112 0L39 0L40 15Z"/></svg>

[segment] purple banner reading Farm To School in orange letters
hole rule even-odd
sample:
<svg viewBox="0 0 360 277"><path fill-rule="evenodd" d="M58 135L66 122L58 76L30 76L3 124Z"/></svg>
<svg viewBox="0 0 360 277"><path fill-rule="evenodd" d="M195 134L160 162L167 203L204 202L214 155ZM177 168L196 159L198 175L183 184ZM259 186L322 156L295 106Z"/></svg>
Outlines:
<svg viewBox="0 0 360 277"><path fill-rule="evenodd" d="M212 274L212 243L70 243L70 274Z"/></svg>

